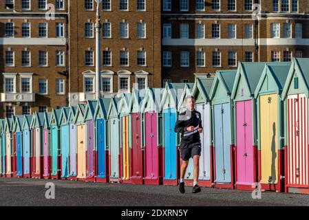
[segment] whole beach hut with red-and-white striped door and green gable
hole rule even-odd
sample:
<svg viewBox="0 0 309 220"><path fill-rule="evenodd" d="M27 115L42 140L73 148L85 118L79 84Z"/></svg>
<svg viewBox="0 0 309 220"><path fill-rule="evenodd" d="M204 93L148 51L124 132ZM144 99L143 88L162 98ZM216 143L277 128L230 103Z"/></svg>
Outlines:
<svg viewBox="0 0 309 220"><path fill-rule="evenodd" d="M281 94L285 121L285 192L309 193L309 59L293 58Z"/></svg>

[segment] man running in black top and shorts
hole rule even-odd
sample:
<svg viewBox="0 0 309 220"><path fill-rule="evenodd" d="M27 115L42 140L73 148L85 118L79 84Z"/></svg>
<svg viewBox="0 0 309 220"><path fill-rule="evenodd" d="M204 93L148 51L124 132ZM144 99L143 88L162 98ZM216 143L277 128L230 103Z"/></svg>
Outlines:
<svg viewBox="0 0 309 220"><path fill-rule="evenodd" d="M200 155L201 141L200 133L203 131L201 114L195 111L195 100L193 96L187 96L185 99L186 111L180 113L175 124L175 132L181 133L180 156L182 164L180 168L179 190L184 193L184 175L189 164L190 157L193 157L193 193L201 191L198 186L198 175L200 173Z"/></svg>

